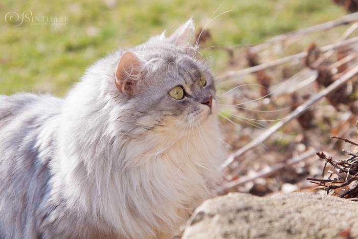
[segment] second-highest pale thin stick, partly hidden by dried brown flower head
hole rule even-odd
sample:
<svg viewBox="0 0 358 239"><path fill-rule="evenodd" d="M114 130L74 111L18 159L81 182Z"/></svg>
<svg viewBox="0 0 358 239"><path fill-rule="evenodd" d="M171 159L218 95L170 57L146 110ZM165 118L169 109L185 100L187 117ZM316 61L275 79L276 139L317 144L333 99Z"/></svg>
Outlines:
<svg viewBox="0 0 358 239"><path fill-rule="evenodd" d="M336 48L339 48L339 47L344 47L344 46L353 44L355 42L358 42L358 36L350 38L348 40L335 42L334 44L321 47L320 49L318 49L318 51L319 52L326 52L326 51L333 50L333 49L336 49ZM240 76L252 74L252 73L264 70L266 68L271 68L271 67L278 66L279 64L283 64L283 63L292 61L294 59L304 58L307 55L308 55L307 52L301 52L301 53L298 53L298 54L295 54L295 55L283 57L281 59L273 60L273 61L270 61L270 62L265 62L265 63L262 63L262 64L259 64L259 65L255 66L255 67L246 68L246 69L243 69L243 70L240 70L240 71L228 71L227 73L221 75L219 78L220 78L221 81L223 81L223 80L227 80L230 77L240 77Z"/></svg>

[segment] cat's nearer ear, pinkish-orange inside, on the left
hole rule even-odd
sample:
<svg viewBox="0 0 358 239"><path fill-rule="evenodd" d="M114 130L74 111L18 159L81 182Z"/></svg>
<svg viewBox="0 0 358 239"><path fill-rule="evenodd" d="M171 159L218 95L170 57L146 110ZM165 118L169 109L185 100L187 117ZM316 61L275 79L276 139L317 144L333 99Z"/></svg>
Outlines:
<svg viewBox="0 0 358 239"><path fill-rule="evenodd" d="M143 75L144 61L135 53L127 51L119 60L116 71L116 86L119 92L131 98L136 91L138 80Z"/></svg>

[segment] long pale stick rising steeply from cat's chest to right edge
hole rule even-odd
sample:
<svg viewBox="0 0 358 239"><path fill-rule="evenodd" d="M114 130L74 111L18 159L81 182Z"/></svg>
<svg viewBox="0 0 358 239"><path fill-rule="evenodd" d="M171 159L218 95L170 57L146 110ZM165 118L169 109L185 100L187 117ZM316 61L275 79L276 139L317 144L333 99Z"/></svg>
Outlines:
<svg viewBox="0 0 358 239"><path fill-rule="evenodd" d="M284 119L280 120L276 124L274 124L271 128L267 129L267 131L259 136L256 140L251 141L247 145L243 146L239 150L237 150L235 153L229 155L228 159L223 162L221 165L221 168L225 168L229 166L236 157L242 155L246 151L256 147L259 143L262 143L264 140L269 138L274 132L276 132L279 128L281 128L283 125L291 121L292 119L299 117L303 112L307 110L308 107L310 107L312 104L316 103L318 100L323 98L324 96L328 95L329 93L337 90L342 84L347 82L350 78L352 78L355 74L358 73L358 66L353 67L353 69L348 69L345 71L346 73L339 79L335 80L333 83L327 86L327 88L323 89L316 95L312 96L309 100L305 101L303 104L298 106L293 112L288 114Z"/></svg>

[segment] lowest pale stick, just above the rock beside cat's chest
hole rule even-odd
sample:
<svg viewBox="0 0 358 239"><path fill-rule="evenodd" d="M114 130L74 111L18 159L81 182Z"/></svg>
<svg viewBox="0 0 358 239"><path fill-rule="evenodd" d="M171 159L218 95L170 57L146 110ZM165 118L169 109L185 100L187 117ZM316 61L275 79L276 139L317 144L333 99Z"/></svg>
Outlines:
<svg viewBox="0 0 358 239"><path fill-rule="evenodd" d="M225 184L223 186L224 189L228 189L228 188L231 188L231 187L234 187L236 185L239 185L239 184L243 184L243 183L246 183L246 182L249 182L249 181L252 181L254 179L257 179L257 178L262 178L262 177L267 177L267 176L270 176L272 175L274 172L288 166L288 165L292 165L292 164L295 164L295 163L298 163L312 155L315 155L317 152L317 149L316 148L311 148L307 151L305 151L303 154L301 155L298 155L296 157L293 157L291 159L288 159L286 162L282 162L282 163L278 163L276 165L273 165L269 168L264 168L260 171L257 171L255 172L254 175L250 175L250 176L243 176L237 180L234 180L234 181L231 181L227 184Z"/></svg>

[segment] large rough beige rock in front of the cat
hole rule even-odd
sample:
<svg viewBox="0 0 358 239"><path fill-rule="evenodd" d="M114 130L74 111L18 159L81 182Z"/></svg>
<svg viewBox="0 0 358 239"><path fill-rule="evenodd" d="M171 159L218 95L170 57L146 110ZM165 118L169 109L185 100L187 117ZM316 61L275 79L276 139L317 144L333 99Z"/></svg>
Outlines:
<svg viewBox="0 0 358 239"><path fill-rule="evenodd" d="M358 236L358 202L315 192L229 193L198 207L182 239L339 238L342 232Z"/></svg>

